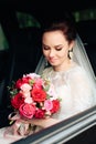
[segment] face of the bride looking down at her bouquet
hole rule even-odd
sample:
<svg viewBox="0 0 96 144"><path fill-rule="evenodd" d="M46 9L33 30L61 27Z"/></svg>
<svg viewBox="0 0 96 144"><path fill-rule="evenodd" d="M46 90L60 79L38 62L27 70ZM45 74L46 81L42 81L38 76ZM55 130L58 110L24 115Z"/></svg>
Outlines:
<svg viewBox="0 0 96 144"><path fill-rule="evenodd" d="M62 31L45 32L42 38L43 54L53 66L60 66L66 63L72 44L65 39Z"/></svg>

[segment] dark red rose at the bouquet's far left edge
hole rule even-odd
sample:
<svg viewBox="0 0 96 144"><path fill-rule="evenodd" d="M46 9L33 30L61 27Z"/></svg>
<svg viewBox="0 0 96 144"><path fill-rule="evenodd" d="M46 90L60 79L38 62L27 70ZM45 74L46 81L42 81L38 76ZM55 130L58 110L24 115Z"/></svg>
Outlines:
<svg viewBox="0 0 96 144"><path fill-rule="evenodd" d="M21 104L24 103L24 97L21 93L15 94L12 99L11 99L11 104L14 109L19 109Z"/></svg>

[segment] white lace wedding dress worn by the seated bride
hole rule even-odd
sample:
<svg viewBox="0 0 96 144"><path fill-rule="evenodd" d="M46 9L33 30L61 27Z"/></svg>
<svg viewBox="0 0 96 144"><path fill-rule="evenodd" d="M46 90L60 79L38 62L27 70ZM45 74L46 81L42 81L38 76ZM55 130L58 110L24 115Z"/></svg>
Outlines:
<svg viewBox="0 0 96 144"><path fill-rule="evenodd" d="M70 70L62 72L55 72L52 68L47 68L44 70L43 76L52 81L57 96L62 99L61 112L55 115L60 121L96 104L94 90L87 74L77 64L72 64Z"/></svg>

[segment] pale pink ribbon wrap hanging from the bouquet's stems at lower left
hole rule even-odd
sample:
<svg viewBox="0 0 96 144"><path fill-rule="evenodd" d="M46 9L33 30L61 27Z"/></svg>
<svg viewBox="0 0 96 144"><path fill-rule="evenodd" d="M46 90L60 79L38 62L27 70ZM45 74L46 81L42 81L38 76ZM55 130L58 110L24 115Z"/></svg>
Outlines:
<svg viewBox="0 0 96 144"><path fill-rule="evenodd" d="M4 137L19 138L34 133L33 125L30 124L29 121L25 123L22 122L22 117L18 112L12 112L9 115L9 120L13 122L13 124L6 130Z"/></svg>

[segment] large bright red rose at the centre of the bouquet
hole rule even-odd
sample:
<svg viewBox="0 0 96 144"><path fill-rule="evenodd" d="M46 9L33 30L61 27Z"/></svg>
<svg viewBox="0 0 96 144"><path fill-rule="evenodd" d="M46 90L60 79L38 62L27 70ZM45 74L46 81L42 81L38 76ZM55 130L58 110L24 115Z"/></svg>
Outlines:
<svg viewBox="0 0 96 144"><path fill-rule="evenodd" d="M31 91L33 101L42 102L46 99L46 93L42 89L33 89Z"/></svg>

